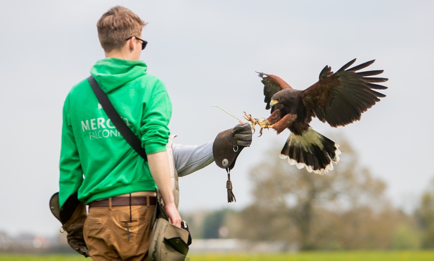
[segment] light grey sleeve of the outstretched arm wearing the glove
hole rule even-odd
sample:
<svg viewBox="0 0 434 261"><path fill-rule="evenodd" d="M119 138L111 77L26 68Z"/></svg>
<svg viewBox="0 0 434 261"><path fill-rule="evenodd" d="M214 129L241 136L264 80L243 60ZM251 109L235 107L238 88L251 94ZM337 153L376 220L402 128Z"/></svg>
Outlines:
<svg viewBox="0 0 434 261"><path fill-rule="evenodd" d="M213 163L213 144L213 141L202 145L173 143L173 158L175 160L175 168L178 171L178 176L183 177L189 175Z"/></svg>

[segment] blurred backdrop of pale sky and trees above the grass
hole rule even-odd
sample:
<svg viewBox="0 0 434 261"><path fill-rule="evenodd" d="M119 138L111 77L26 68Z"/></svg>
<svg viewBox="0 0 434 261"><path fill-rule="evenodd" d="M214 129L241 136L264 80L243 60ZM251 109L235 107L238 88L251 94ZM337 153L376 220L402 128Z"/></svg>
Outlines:
<svg viewBox="0 0 434 261"><path fill-rule="evenodd" d="M265 130L231 171L236 202L215 164L181 178L192 250L434 248L433 1L17 0L0 16L0 250L65 243L48 208L62 106L104 58L96 22L117 4L148 22L141 59L166 84L177 143L237 124L213 105L267 117L255 71L303 90L325 65L376 59L369 69L390 79L360 122L312 121L343 152L325 176L289 166L278 157L289 131Z"/></svg>

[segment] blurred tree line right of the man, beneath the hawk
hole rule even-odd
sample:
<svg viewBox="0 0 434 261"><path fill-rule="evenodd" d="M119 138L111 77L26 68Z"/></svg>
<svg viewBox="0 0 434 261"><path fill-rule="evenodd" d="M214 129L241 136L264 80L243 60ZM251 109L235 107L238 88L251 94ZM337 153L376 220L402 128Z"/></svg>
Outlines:
<svg viewBox="0 0 434 261"><path fill-rule="evenodd" d="M264 153L250 171L252 204L241 211L183 215L194 238L276 242L289 249L433 249L434 180L413 213L394 207L386 184L361 166L349 142L327 175Z"/></svg>

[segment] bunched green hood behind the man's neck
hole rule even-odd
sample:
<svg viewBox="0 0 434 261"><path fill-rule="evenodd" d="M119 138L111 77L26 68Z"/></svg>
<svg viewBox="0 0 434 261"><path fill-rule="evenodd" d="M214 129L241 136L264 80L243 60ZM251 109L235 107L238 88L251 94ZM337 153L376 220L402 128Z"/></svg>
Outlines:
<svg viewBox="0 0 434 261"><path fill-rule="evenodd" d="M145 75L147 68L143 61L109 57L97 61L90 70L90 74L101 86L101 89L108 93Z"/></svg>

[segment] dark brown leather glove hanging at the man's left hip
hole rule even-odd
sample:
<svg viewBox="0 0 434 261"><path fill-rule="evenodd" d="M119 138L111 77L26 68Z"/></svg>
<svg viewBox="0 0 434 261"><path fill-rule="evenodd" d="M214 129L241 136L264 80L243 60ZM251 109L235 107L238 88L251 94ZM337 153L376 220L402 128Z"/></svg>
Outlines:
<svg viewBox="0 0 434 261"><path fill-rule="evenodd" d="M74 193L60 208L59 193L56 192L51 196L50 210L54 217L62 223L62 229L67 233L66 239L69 246L85 258L90 257L83 237L83 226L87 217L86 203L79 201L77 193Z"/></svg>

